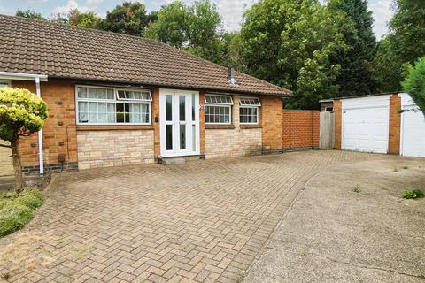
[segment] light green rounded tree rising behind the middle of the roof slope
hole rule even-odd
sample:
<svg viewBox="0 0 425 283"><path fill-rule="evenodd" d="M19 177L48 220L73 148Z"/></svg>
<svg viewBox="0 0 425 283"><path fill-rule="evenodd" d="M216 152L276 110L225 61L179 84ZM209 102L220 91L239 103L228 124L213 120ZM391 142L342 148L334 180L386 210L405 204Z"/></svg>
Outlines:
<svg viewBox="0 0 425 283"><path fill-rule="evenodd" d="M195 1L189 6L174 1L161 7L158 20L149 25L143 36L222 64L226 56L220 25L217 6L209 0Z"/></svg>

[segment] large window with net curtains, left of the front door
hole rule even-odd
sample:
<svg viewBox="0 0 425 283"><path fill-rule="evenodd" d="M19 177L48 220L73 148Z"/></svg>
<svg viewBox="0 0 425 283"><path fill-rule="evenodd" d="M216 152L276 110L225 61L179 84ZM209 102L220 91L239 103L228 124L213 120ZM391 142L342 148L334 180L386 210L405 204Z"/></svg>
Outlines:
<svg viewBox="0 0 425 283"><path fill-rule="evenodd" d="M151 92L77 87L78 124L150 124Z"/></svg>

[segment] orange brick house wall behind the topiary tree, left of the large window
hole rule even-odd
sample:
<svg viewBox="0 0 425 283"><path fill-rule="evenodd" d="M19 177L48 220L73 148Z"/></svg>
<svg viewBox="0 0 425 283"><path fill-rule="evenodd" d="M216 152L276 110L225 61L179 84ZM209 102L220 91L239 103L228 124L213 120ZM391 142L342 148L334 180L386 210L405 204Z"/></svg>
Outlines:
<svg viewBox="0 0 425 283"><path fill-rule="evenodd" d="M13 80L13 88L27 88L35 93L34 81ZM77 162L75 130L75 88L72 83L51 80L41 83L42 99L48 104L49 117L42 130L45 169L58 165L58 155L65 154L66 165ZM59 125L60 124L60 125ZM37 134L24 138L19 144L24 172L38 171ZM73 167L73 165L71 165Z"/></svg>

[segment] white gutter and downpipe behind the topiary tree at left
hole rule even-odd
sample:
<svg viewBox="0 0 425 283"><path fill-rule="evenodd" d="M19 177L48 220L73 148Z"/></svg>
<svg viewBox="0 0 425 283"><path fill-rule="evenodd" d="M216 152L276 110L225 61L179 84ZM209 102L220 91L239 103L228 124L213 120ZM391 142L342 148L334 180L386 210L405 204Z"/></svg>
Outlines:
<svg viewBox="0 0 425 283"><path fill-rule="evenodd" d="M12 73L0 72L0 79L2 80L34 80L35 81L35 94L42 97L40 88L40 81L47 81L47 75L36 73ZM38 131L38 162L40 167L40 175L44 173L43 162L43 149L42 149L42 130Z"/></svg>

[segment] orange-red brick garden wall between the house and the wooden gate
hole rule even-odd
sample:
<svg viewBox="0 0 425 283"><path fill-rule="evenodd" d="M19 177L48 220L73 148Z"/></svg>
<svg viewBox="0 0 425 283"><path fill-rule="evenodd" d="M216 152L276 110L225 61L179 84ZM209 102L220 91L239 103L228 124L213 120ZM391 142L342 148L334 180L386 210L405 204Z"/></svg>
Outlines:
<svg viewBox="0 0 425 283"><path fill-rule="evenodd" d="M284 151L319 148L319 111L282 111Z"/></svg>

